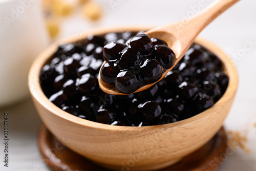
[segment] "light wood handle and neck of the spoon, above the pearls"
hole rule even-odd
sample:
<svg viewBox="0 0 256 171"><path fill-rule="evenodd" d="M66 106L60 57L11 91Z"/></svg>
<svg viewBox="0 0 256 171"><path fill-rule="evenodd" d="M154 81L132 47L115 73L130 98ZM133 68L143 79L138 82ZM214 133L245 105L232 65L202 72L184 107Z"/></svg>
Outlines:
<svg viewBox="0 0 256 171"><path fill-rule="evenodd" d="M176 53L177 61L175 65L180 61L188 48L193 44L198 34L214 20L221 13L237 3L239 0L216 0L208 7L204 8L195 16L181 20L180 22L172 23L169 25L157 27L149 30L146 34L151 37L157 36L167 41L169 48L173 49ZM169 33L169 36L159 35L159 33ZM178 40L180 44L175 44L175 40ZM179 46L179 47L177 47Z"/></svg>

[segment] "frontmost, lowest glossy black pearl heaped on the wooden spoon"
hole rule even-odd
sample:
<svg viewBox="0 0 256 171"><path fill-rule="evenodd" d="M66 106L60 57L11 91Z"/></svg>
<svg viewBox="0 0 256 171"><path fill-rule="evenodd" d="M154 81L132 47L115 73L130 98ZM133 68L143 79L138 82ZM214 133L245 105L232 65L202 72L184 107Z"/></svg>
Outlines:
<svg viewBox="0 0 256 171"><path fill-rule="evenodd" d="M130 70L123 70L117 74L116 89L121 93L133 93L138 89L139 83L139 78Z"/></svg>

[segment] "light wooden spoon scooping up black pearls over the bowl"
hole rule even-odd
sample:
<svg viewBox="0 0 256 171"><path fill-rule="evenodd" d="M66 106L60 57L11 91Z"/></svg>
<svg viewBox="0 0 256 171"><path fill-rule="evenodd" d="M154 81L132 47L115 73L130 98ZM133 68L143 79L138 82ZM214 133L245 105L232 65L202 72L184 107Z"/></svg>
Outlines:
<svg viewBox="0 0 256 171"><path fill-rule="evenodd" d="M169 48L171 48L176 54L176 62L174 65L166 70L161 78L158 80L160 81L165 77L165 75L172 70L177 63L181 60L184 56L185 52L189 49L189 47L193 44L197 35L210 23L214 20L217 16L219 16L222 12L226 9L231 7L233 4L237 3L239 0L217 0L210 4L207 8L199 12L194 17L191 17L186 20L181 20L180 22L176 22L173 24L168 24L165 26L160 26L155 29L149 30L145 32L150 37L156 37L163 39L167 42ZM106 61L103 62L102 66ZM101 66L101 69L102 69ZM100 69L100 70L101 70ZM99 72L100 73L100 72ZM147 84L139 88L134 93L143 91L152 87L155 83ZM124 93L119 93L116 91L115 88L110 87L108 84L104 83L100 79L99 74L99 86L105 93L114 94L114 95L128 95Z"/></svg>

